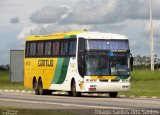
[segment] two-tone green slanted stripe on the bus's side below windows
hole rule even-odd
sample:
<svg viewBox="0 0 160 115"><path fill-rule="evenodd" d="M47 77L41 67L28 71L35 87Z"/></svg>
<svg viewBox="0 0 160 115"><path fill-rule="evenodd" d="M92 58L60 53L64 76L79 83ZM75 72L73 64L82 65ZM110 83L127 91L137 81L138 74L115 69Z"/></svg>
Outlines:
<svg viewBox="0 0 160 115"><path fill-rule="evenodd" d="M66 78L70 58L58 58L52 83L62 84Z"/></svg>

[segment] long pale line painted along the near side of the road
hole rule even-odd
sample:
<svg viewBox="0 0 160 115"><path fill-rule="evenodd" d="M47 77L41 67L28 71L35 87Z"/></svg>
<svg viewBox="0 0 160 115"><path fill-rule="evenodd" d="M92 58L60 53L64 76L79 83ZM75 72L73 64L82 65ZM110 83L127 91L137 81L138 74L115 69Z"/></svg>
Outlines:
<svg viewBox="0 0 160 115"><path fill-rule="evenodd" d="M83 108L95 108L95 109L125 109L119 107L105 107L105 106L93 106L93 105L81 105L81 104L70 104L70 103L55 103L55 102L40 102L40 101L26 101L26 100L15 100L15 99L1 99L1 101L18 102L18 103L29 103L29 104L48 104L48 105L61 105L61 106L73 106Z"/></svg>

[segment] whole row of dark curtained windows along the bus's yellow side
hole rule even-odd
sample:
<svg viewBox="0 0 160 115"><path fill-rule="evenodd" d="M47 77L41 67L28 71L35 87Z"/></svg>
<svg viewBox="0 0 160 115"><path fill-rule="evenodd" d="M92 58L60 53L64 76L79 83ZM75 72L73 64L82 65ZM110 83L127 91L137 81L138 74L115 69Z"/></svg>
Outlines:
<svg viewBox="0 0 160 115"><path fill-rule="evenodd" d="M26 56L29 57L70 57L75 55L76 39L26 42Z"/></svg>

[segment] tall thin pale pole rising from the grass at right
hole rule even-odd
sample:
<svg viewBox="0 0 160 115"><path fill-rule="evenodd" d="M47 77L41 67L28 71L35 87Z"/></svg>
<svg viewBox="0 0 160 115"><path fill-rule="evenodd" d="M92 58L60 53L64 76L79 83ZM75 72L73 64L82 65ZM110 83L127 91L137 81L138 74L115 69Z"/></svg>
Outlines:
<svg viewBox="0 0 160 115"><path fill-rule="evenodd" d="M152 23L152 0L150 0L150 49L151 49L151 70L154 71L154 39Z"/></svg>

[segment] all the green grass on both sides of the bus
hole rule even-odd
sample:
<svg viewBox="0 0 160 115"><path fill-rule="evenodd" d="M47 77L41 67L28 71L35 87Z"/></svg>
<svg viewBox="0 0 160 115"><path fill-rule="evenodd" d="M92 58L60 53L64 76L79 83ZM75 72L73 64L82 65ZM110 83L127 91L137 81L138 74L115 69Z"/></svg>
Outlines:
<svg viewBox="0 0 160 115"><path fill-rule="evenodd" d="M160 71L135 70L132 72L131 90L121 92L124 95L160 97ZM30 90L23 83L11 83L9 72L0 72L0 89Z"/></svg>

